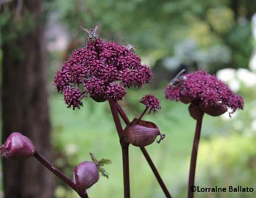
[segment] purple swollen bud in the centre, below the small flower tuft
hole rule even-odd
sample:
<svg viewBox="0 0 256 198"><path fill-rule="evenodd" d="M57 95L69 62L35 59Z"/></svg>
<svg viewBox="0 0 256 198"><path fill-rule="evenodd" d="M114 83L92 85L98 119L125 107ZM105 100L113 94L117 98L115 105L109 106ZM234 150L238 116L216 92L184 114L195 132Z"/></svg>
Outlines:
<svg viewBox="0 0 256 198"><path fill-rule="evenodd" d="M135 122L133 121L133 123ZM157 136L160 136L157 143L160 143L165 137L153 122L140 120L138 124L130 125L124 130L122 140L136 147L146 147L152 144Z"/></svg>

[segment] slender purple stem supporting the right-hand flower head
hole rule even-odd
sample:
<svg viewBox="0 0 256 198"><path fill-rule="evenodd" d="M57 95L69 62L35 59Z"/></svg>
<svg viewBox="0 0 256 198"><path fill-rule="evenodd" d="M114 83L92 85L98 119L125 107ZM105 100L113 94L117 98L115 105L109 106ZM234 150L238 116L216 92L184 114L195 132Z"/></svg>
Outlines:
<svg viewBox="0 0 256 198"><path fill-rule="evenodd" d="M188 198L193 198L193 186L195 183L195 174L196 174L196 157L199 147L200 133L202 128L202 118L204 112L198 116L196 120L196 131L195 136L193 138L193 148L191 152L191 166L189 170L189 178L188 178Z"/></svg>

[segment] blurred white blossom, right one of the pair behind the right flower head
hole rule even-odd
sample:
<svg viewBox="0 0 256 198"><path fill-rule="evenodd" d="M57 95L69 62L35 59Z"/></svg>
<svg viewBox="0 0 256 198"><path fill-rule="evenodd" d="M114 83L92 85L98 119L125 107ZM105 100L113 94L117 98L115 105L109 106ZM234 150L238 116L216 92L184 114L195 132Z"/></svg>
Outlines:
<svg viewBox="0 0 256 198"><path fill-rule="evenodd" d="M255 87L256 86L256 74L252 73L246 69L238 69L236 72L236 76L238 79L246 86L246 87Z"/></svg>

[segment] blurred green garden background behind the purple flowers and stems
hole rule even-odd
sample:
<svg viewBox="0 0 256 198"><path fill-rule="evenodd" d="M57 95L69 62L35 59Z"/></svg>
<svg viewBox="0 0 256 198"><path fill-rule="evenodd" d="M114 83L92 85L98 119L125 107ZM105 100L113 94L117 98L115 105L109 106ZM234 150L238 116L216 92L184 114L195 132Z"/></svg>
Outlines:
<svg viewBox="0 0 256 198"><path fill-rule="evenodd" d="M108 103L90 99L84 100L80 110L67 109L63 96L54 89L53 76L74 48L85 45L85 32L79 26L90 29L96 23L102 23L104 40L135 45L136 53L154 71L152 84L128 90L121 106L132 120L143 111L138 102L143 95L150 93L160 99L162 109L144 120L157 123L166 139L147 148L171 194L186 197L196 122L189 116L188 106L164 98L164 88L170 76L185 65L188 71L202 69L216 74L245 100L244 110L231 119L228 115L204 117L196 185L255 189L253 193L198 193L195 197L256 197L254 1L54 0L45 1L45 10L49 18L46 44L54 164L71 177L73 167L89 160L89 153L112 161L105 167L110 178L102 177L91 187L90 197L123 194L121 148L113 118ZM0 26L7 18L6 13L1 15ZM7 39L23 29L10 32ZM141 151L130 147L129 156L132 197L164 197ZM55 194L57 198L78 197L60 181Z"/></svg>

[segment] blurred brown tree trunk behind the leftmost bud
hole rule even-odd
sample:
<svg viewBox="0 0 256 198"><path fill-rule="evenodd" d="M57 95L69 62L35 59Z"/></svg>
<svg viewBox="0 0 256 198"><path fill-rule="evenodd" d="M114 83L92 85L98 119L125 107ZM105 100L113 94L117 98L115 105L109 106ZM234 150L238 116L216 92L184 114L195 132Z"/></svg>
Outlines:
<svg viewBox="0 0 256 198"><path fill-rule="evenodd" d="M26 34L18 34L15 39L3 42L2 141L12 131L19 131L35 142L40 153L51 159L42 1L16 0L4 6L12 12L13 20L18 20L17 24L24 23L24 13L28 12L33 26L29 29L24 23ZM10 34L12 26L15 29L15 23L7 24ZM2 165L5 198L54 197L54 176L35 158L21 163L3 159Z"/></svg>

